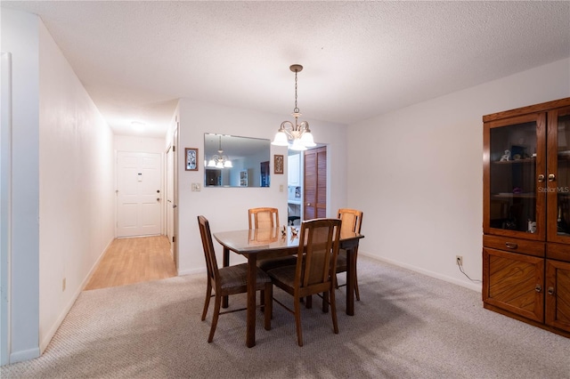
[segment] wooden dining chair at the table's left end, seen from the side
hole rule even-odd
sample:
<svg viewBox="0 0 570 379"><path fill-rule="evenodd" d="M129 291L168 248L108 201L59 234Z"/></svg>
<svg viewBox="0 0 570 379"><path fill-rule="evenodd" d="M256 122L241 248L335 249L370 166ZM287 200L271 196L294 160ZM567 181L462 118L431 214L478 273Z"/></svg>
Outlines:
<svg viewBox="0 0 570 379"><path fill-rule="evenodd" d="M206 319L206 314L208 313L212 289L214 289L216 296L212 326L210 327L210 334L208 336L208 343L211 343L214 339L214 333L216 333L217 319L221 314L247 309L240 308L236 310L225 310L223 312L220 311L223 296L248 292L248 264L241 263L234 266L218 268L216 251L214 250L208 219L200 215L198 216L198 223L208 271L208 285L206 287L206 301L204 302L204 310L202 311L202 321ZM265 298L265 330L270 330L273 308L273 286L271 278L262 270L257 270L256 291L262 291L262 296Z"/></svg>

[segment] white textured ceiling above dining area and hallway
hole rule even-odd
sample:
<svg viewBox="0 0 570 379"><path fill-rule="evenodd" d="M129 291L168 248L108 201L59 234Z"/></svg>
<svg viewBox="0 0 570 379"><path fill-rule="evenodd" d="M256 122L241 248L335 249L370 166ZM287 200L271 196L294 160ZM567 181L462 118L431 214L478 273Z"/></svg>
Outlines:
<svg viewBox="0 0 570 379"><path fill-rule="evenodd" d="M570 2L10 2L116 133L189 98L351 124L570 56ZM275 125L277 129L279 125Z"/></svg>

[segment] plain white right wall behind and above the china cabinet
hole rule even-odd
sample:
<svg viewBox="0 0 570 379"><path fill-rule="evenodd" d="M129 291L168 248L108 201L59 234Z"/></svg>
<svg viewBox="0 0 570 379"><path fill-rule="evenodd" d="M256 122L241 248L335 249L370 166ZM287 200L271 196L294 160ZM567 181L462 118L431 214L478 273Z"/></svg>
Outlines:
<svg viewBox="0 0 570 379"><path fill-rule="evenodd" d="M484 115L570 96L570 60L350 125L348 206L364 211L359 252L479 290ZM372 152L376 165L361 165Z"/></svg>

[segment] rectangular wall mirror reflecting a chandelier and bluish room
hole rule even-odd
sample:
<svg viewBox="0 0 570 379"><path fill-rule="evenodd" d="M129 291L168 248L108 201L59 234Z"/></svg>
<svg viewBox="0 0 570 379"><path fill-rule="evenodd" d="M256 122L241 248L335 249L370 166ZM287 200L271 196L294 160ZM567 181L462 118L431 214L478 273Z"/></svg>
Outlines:
<svg viewBox="0 0 570 379"><path fill-rule="evenodd" d="M204 187L269 187L270 154L269 140L204 133Z"/></svg>

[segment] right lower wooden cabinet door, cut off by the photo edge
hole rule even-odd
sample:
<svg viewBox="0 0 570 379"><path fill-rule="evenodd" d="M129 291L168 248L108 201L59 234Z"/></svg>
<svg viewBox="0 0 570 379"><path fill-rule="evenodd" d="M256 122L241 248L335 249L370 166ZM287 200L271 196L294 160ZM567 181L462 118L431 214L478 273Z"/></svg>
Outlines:
<svg viewBox="0 0 570 379"><path fill-rule="evenodd" d="M546 324L570 332L570 263L546 262Z"/></svg>

